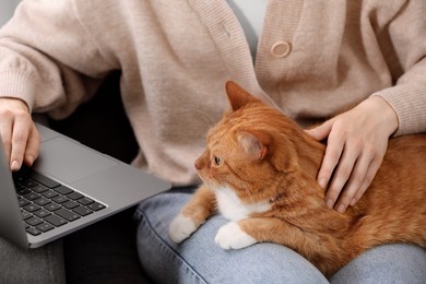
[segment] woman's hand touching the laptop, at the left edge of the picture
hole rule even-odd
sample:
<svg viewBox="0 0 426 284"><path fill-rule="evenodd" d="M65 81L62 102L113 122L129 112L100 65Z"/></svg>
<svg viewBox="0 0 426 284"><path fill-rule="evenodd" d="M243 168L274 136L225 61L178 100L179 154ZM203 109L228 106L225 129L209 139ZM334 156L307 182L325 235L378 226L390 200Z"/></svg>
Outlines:
<svg viewBox="0 0 426 284"><path fill-rule="evenodd" d="M26 104L0 98L0 137L11 170L31 166L38 156L39 134Z"/></svg>

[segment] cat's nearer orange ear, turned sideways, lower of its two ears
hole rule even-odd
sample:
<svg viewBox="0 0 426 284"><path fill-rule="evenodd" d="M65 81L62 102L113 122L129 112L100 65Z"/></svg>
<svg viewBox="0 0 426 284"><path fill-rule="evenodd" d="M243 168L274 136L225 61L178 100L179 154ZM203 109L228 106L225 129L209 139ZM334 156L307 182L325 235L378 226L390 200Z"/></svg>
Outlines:
<svg viewBox="0 0 426 284"><path fill-rule="evenodd" d="M270 139L260 131L241 131L238 133L238 142L252 158L263 159L268 154Z"/></svg>

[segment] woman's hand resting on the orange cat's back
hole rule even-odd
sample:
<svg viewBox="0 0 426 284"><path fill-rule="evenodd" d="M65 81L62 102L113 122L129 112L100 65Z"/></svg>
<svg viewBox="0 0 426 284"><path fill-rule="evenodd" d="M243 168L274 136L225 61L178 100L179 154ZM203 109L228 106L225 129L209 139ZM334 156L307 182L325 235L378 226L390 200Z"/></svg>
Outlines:
<svg viewBox="0 0 426 284"><path fill-rule="evenodd" d="M381 97L371 96L355 108L307 130L318 141L328 139L318 184L326 188L326 204L343 213L371 184L398 117ZM331 181L330 181L331 180Z"/></svg>

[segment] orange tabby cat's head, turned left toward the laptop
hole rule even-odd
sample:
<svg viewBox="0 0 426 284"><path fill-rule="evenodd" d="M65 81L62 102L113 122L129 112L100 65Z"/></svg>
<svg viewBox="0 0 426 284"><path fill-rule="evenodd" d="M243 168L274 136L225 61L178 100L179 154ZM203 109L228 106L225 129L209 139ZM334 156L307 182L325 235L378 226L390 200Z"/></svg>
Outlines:
<svg viewBox="0 0 426 284"><path fill-rule="evenodd" d="M307 170L304 145L311 141L294 121L234 82L226 83L226 94L230 111L209 131L206 150L196 161L205 184L262 196L285 175Z"/></svg>

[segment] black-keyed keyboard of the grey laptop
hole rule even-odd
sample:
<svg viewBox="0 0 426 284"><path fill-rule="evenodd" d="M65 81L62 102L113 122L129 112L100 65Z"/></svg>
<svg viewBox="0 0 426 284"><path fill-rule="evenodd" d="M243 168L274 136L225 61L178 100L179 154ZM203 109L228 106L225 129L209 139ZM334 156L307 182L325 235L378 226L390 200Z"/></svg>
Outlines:
<svg viewBox="0 0 426 284"><path fill-rule="evenodd" d="M33 236L62 226L106 206L46 176L22 169L13 173L26 232Z"/></svg>

